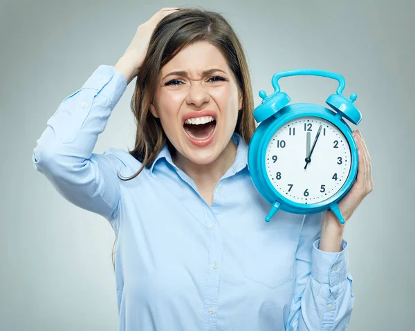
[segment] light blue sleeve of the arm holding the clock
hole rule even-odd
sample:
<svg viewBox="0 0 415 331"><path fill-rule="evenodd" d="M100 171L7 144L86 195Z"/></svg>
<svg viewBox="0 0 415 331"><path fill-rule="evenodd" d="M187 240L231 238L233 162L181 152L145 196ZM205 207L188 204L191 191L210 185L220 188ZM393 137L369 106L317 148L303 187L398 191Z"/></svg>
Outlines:
<svg viewBox="0 0 415 331"><path fill-rule="evenodd" d="M288 331L346 330L353 310L347 241L341 252L320 250L322 213L304 218L295 254L295 287Z"/></svg>

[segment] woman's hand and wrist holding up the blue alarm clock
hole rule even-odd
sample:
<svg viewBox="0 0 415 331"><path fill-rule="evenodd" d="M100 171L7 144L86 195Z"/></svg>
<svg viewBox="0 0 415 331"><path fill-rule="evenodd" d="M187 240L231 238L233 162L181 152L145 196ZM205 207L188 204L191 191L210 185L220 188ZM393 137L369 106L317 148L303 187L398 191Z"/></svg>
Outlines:
<svg viewBox="0 0 415 331"><path fill-rule="evenodd" d="M339 209L345 220L344 224L340 223L331 209L324 211L322 220L322 234L325 232L334 232L343 234L344 225L349 220L353 211L356 210L360 202L374 189L374 181L371 176L371 160L369 151L362 134L359 130L353 131L353 138L358 146L358 176L350 191L338 202Z"/></svg>

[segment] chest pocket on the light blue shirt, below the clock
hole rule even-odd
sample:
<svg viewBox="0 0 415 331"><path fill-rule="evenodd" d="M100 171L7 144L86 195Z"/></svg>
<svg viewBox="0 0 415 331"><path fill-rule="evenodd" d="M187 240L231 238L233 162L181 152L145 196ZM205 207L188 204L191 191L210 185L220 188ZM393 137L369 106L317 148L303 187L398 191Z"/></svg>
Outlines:
<svg viewBox="0 0 415 331"><path fill-rule="evenodd" d="M291 281L298 239L295 228L244 234L243 275L271 288Z"/></svg>

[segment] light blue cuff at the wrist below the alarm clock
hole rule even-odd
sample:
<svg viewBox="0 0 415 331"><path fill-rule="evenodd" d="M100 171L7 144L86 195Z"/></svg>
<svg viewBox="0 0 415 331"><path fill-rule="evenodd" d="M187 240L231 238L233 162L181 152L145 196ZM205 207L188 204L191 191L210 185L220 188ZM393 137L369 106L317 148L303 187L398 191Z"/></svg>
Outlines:
<svg viewBox="0 0 415 331"><path fill-rule="evenodd" d="M311 276L320 283L334 286L347 278L349 274L349 250L347 241L342 241L341 252L325 252L317 247L320 239L313 243L313 254L311 257Z"/></svg>

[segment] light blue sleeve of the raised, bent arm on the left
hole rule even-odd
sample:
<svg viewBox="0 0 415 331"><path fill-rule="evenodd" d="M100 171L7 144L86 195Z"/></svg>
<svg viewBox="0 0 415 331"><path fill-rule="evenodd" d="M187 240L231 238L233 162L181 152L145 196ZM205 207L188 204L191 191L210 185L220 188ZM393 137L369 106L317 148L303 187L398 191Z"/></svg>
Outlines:
<svg viewBox="0 0 415 331"><path fill-rule="evenodd" d="M92 153L127 81L113 66L99 66L49 118L33 149L33 165L69 202L113 220L118 213L122 161Z"/></svg>

